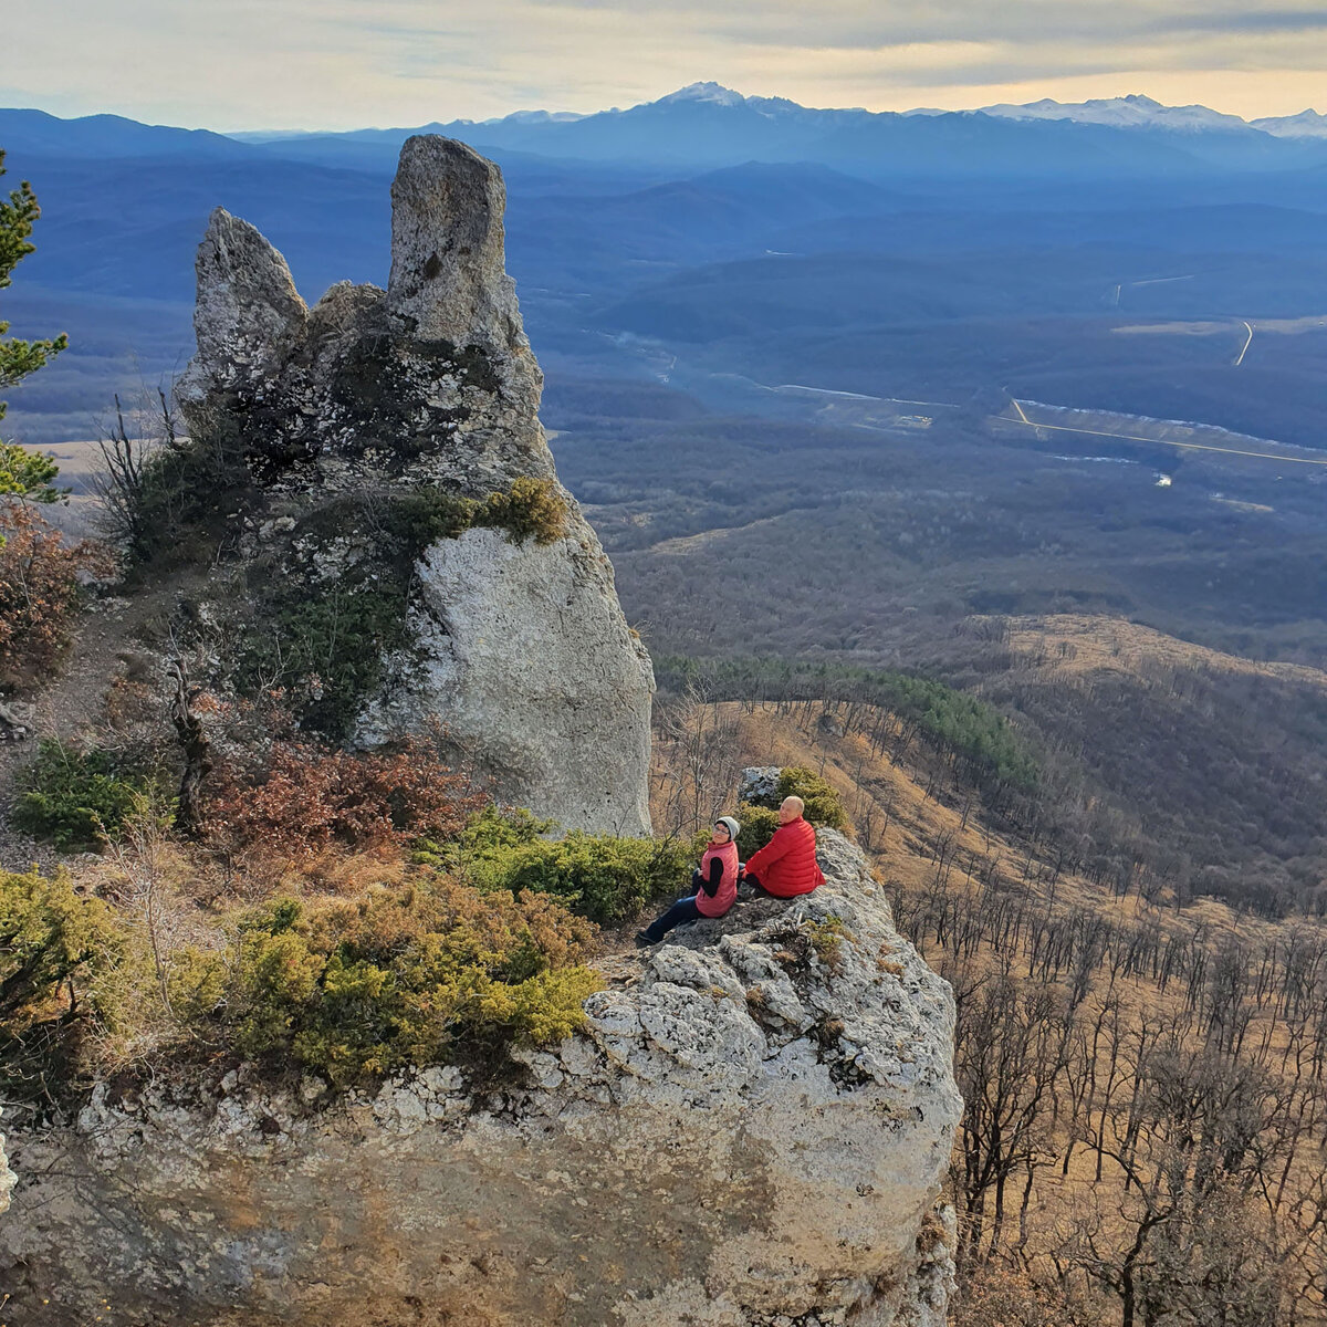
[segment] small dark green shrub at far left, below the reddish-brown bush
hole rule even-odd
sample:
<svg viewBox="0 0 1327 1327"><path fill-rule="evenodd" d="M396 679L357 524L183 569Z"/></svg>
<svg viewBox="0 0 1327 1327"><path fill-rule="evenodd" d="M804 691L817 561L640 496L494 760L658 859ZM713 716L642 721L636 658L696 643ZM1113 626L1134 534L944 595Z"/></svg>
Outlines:
<svg viewBox="0 0 1327 1327"><path fill-rule="evenodd" d="M162 774L123 766L98 747L46 738L37 759L19 775L9 819L24 833L76 852L105 843L145 796L169 799Z"/></svg>

